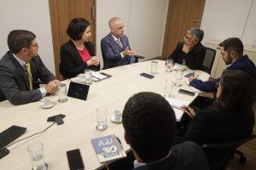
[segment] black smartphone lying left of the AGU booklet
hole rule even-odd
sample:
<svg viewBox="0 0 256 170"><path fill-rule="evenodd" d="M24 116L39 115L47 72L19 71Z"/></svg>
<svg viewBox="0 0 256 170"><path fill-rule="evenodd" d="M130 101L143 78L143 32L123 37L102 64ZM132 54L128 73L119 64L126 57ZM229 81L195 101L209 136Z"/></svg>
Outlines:
<svg viewBox="0 0 256 170"><path fill-rule="evenodd" d="M84 162L79 149L67 151L67 160L70 170L84 170Z"/></svg>

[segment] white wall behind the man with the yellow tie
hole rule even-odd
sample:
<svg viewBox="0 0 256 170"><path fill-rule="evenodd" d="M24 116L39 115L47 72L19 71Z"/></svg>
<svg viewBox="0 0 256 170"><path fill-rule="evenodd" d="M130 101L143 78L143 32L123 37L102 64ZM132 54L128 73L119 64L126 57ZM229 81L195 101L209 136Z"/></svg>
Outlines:
<svg viewBox="0 0 256 170"><path fill-rule="evenodd" d="M7 45L9 31L29 30L37 36L38 54L49 71L55 74L48 1L1 0L0 23L0 59L9 50Z"/></svg>

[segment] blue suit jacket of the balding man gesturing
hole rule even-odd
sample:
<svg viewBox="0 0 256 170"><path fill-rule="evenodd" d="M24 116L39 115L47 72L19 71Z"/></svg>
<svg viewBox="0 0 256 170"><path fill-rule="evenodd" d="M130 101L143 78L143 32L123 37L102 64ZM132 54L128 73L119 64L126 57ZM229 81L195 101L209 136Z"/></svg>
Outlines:
<svg viewBox="0 0 256 170"><path fill-rule="evenodd" d="M127 47L131 49L128 37L126 37L125 35L122 36L121 42L123 43L124 48L121 48L119 44L114 41L111 33L109 33L108 36L102 38L101 48L102 58L104 61L104 69L134 63L133 56L126 55L124 58L122 58L120 54Z"/></svg>

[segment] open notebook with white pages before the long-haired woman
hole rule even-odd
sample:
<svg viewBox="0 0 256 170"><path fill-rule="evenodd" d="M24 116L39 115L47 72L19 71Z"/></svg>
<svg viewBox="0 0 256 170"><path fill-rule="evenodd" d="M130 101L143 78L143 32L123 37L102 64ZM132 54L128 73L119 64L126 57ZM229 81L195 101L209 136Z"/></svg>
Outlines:
<svg viewBox="0 0 256 170"><path fill-rule="evenodd" d="M173 111L175 112L176 121L180 122L183 116L183 110L180 107L183 105L189 105L189 102L169 97L166 97L166 100L169 102L169 104L172 106Z"/></svg>

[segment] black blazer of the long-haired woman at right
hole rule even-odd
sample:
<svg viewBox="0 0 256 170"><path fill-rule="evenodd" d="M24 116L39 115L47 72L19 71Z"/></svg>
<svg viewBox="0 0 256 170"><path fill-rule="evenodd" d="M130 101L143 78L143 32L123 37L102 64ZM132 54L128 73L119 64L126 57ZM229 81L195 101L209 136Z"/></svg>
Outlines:
<svg viewBox="0 0 256 170"><path fill-rule="evenodd" d="M179 142L190 140L197 144L212 144L246 138L253 133L254 123L252 109L234 112L211 106L196 112Z"/></svg>

